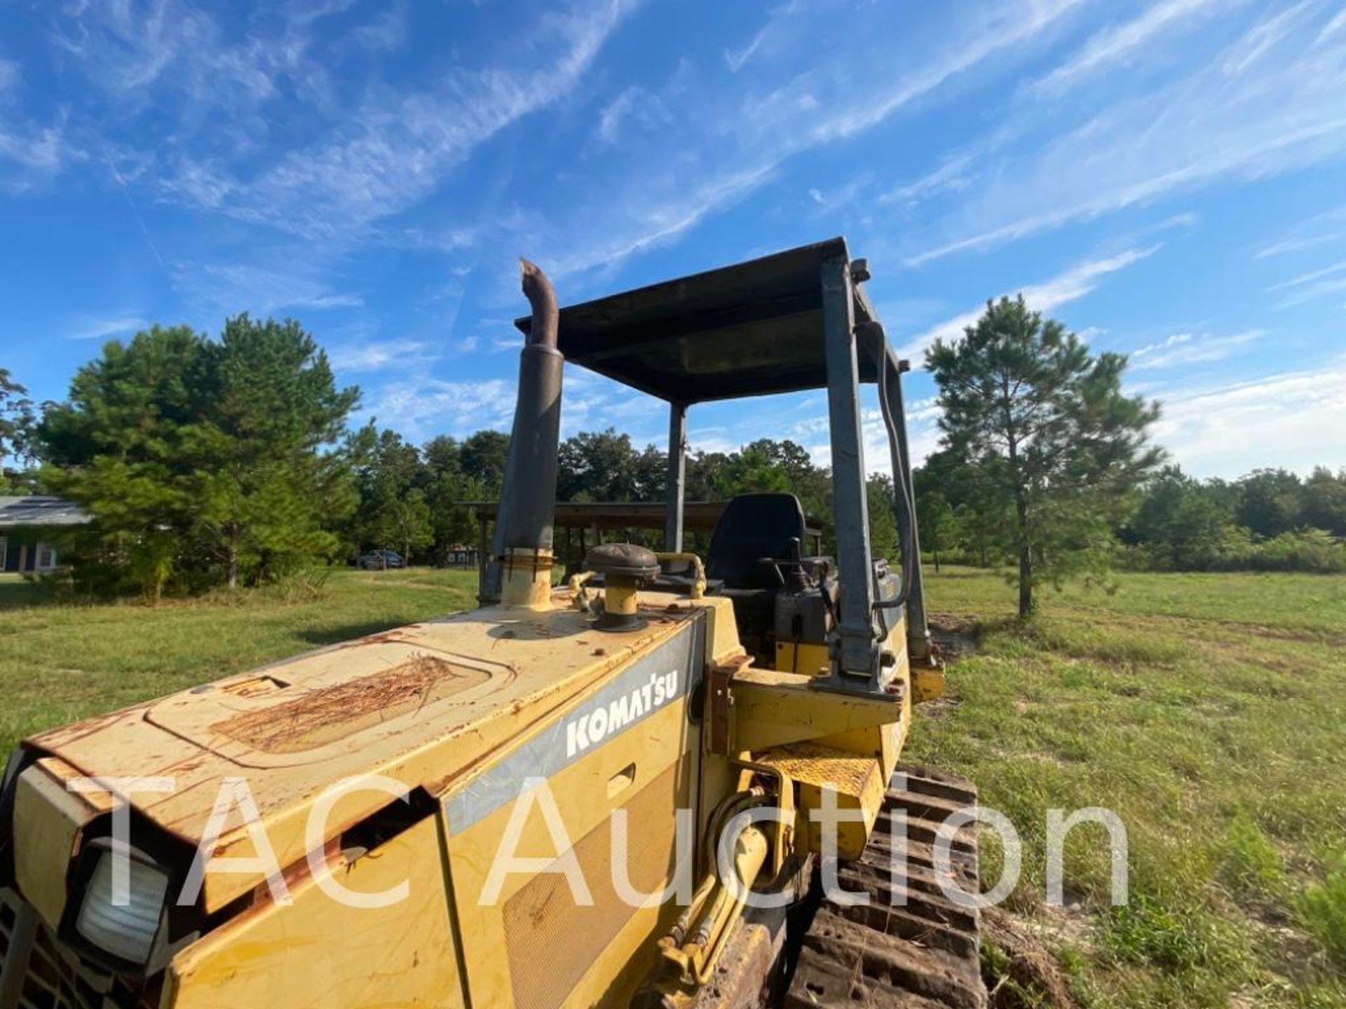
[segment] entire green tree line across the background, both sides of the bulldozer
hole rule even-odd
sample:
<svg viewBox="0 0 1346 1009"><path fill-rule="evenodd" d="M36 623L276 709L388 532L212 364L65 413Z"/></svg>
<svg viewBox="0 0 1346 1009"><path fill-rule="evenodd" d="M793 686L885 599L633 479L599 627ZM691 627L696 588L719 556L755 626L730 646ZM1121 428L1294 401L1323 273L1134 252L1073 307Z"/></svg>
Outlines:
<svg viewBox="0 0 1346 1009"><path fill-rule="evenodd" d="M1024 615L1042 581L1119 562L1346 570L1346 470L1195 480L1149 443L1159 405L1123 393L1125 363L1022 297L934 344L942 441L914 484L935 566L1011 565ZM94 515L63 554L90 593L258 585L373 548L433 564L474 544L466 502L498 496L509 437L416 445L374 421L351 429L359 401L297 322L241 315L218 338L156 326L105 344L61 402L35 406L0 370L0 491ZM557 496L664 500L665 468L653 444L581 432L560 447ZM793 441L688 457L690 500L774 490L830 518L830 474ZM868 494L875 553L892 557L891 479L872 475Z"/></svg>

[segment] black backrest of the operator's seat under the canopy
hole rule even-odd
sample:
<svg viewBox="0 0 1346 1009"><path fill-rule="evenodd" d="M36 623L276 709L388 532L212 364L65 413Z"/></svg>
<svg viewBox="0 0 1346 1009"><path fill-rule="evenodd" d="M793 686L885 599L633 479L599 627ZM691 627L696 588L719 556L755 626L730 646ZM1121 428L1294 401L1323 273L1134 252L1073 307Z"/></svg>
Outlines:
<svg viewBox="0 0 1346 1009"><path fill-rule="evenodd" d="M793 494L743 494L731 500L711 533L705 576L728 589L775 589L775 569L763 557L790 556L790 541L805 541L804 507Z"/></svg>

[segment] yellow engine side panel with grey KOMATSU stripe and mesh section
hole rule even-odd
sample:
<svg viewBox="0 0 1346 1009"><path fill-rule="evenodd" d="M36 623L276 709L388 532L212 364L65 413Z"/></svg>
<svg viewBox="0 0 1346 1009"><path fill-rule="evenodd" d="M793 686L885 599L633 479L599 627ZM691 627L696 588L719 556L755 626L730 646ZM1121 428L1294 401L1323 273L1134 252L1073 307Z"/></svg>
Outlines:
<svg viewBox="0 0 1346 1009"><path fill-rule="evenodd" d="M633 905L615 880L657 893L693 854L692 844L680 849L674 817L697 810L703 634L703 620L688 623L450 795L474 1005L625 1005L649 969L677 907ZM614 813L629 825L625 850ZM696 827L688 833L690 842ZM518 870L493 879L509 856Z"/></svg>

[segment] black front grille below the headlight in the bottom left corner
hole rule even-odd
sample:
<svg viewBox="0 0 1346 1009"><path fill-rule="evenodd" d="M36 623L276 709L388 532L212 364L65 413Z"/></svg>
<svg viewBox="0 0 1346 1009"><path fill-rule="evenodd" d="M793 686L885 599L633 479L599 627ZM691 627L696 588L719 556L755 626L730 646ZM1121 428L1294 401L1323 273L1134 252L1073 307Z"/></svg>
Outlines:
<svg viewBox="0 0 1346 1009"><path fill-rule="evenodd" d="M17 1002L0 1009L152 1009L159 1004L157 997L82 963L40 923L31 944L27 943L16 935L20 908L16 893L0 891L0 978L9 982L11 969L23 971ZM11 958L15 958L12 965ZM0 998L4 986L0 985Z"/></svg>

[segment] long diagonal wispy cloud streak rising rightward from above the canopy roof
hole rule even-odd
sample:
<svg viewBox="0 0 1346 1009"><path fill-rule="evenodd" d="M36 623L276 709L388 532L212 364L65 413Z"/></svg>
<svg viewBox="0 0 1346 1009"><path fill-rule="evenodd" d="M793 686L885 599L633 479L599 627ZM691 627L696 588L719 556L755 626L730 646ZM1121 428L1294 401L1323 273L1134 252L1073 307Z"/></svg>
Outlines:
<svg viewBox="0 0 1346 1009"><path fill-rule="evenodd" d="M891 46L892 31L902 26L896 7L865 7L857 16L872 20L872 28L839 22L825 11L804 16L810 4L782 8L771 24L779 38L754 55L760 78L777 83L765 90L750 86L725 100L704 81L689 85L680 67L677 94L666 102L680 117L627 152L618 186L595 187L569 219L544 229L548 245L557 248L552 262L563 272L610 269L669 245L769 183L786 161L859 137L921 100L933 101L945 85L996 57L1022 58L1030 43L1081 3L1008 3L966 19L938 44L903 38L902 59ZM800 44L813 54L810 59L801 62ZM902 67L896 75L894 66Z"/></svg>

